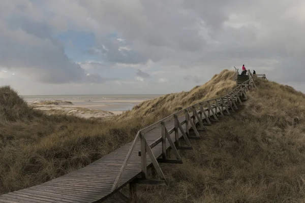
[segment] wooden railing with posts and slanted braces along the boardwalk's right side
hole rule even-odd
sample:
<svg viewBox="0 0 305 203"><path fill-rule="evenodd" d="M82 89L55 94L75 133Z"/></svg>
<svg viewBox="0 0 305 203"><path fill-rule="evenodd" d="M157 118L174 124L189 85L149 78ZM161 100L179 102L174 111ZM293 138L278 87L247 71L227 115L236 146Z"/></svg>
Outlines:
<svg viewBox="0 0 305 203"><path fill-rule="evenodd" d="M238 70L236 72L238 74ZM136 134L136 137L130 147L129 152L126 155L126 159L123 163L123 165L120 168L120 171L118 173L118 176L115 179L115 182L112 186L111 192L113 192L121 179L121 176L124 174L125 168L127 167L127 164L131 158L131 154L135 150L137 142L140 140L140 152L139 155L141 156L141 171L142 171L142 178L146 179L147 177L147 161L146 161L146 153L148 154L151 162L153 163L157 174L159 175L161 180L164 180L165 183L166 179L165 176L161 170L161 167L158 163L152 149L157 146L158 144L162 143L162 160L167 159L167 147L166 147L166 139L168 143L170 144L171 149L173 150L173 153L176 157L175 161L176 163L182 163L181 157L177 151L177 149L192 149L191 143L189 141L190 138L199 138L199 132L198 130L205 129L203 119L205 119L207 125L210 125L210 117L212 117L214 120L218 120L217 114L224 115L224 111L226 111L227 114L230 114L229 108L234 112L234 109L237 109L237 103L241 104L240 96L241 93L244 97L246 96L246 91L250 90L250 86L253 86L253 79L249 79L242 84L239 84L236 88L234 88L232 91L230 91L227 95L218 97L218 98L212 98L208 100L201 101L199 103L196 103L190 107L184 108L180 111L177 111L166 118L157 121L154 124L151 124L141 130L138 131ZM192 112L192 115L190 113ZM180 122L178 117L183 116L185 119ZM203 118L204 117L204 118ZM200 125L200 128L196 128L196 119L198 120L198 123ZM165 122L174 120L174 127L171 129L167 129ZM185 129L183 129L182 125L185 125ZM145 139L145 133L149 132L150 130L161 126L161 136L159 139L157 139L155 142L149 144L147 140ZM193 131L195 132L195 136L190 137L189 136L189 129L190 126L192 127ZM182 134L182 139L186 141L186 144L188 146L180 146L179 142L179 131ZM172 141L170 134L175 133L174 141Z"/></svg>

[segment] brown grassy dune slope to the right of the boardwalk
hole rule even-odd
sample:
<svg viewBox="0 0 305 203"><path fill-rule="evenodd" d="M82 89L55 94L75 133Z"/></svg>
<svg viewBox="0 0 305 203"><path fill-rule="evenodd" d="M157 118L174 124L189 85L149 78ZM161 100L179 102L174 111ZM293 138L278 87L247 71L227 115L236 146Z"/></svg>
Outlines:
<svg viewBox="0 0 305 203"><path fill-rule="evenodd" d="M237 113L192 141L184 164L161 164L169 187L140 202L304 202L305 95L262 79Z"/></svg>

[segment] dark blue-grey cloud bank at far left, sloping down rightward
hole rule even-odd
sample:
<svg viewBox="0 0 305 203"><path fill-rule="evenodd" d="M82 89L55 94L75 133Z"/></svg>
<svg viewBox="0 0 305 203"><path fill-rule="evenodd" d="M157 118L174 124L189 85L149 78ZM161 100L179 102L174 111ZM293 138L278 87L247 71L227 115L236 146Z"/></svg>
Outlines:
<svg viewBox="0 0 305 203"><path fill-rule="evenodd" d="M7 33L0 32L1 66L19 70L43 83L103 82L99 77L87 79L80 65L71 61L62 44L52 38L52 29L44 21L34 22L14 16L8 24ZM16 32L18 29L22 30L22 36ZM22 37L33 42L16 39Z"/></svg>

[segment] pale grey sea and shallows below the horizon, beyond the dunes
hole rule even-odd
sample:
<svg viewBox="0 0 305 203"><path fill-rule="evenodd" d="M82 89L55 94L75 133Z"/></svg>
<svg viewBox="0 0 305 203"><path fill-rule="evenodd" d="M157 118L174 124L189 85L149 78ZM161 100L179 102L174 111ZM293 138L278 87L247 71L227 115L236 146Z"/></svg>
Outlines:
<svg viewBox="0 0 305 203"><path fill-rule="evenodd" d="M115 95L23 95L27 103L37 100L65 100L74 106L104 110L127 111L147 99L153 99L162 94L115 94Z"/></svg>

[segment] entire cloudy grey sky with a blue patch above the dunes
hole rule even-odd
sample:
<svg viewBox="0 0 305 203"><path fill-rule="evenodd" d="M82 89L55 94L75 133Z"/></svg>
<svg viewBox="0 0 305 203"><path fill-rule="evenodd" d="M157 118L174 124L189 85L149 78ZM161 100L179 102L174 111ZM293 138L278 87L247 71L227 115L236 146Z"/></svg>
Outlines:
<svg viewBox="0 0 305 203"><path fill-rule="evenodd" d="M303 0L1 0L0 86L164 94L242 64L305 92Z"/></svg>

